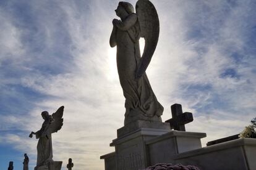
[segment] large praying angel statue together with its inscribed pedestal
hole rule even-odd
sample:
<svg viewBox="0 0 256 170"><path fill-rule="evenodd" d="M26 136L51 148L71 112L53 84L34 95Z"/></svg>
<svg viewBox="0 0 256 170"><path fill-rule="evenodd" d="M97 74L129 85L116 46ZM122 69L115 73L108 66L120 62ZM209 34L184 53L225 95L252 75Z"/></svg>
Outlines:
<svg viewBox="0 0 256 170"><path fill-rule="evenodd" d="M148 165L145 142L170 131L163 123L163 106L158 102L145 73L153 56L159 36L159 20L153 4L148 0L132 4L119 2L115 10L109 44L117 46L117 71L125 97L124 127L117 129L117 139L110 144L115 152L102 159L113 162L116 169L142 169ZM139 39L145 39L140 55ZM112 165L107 169L114 169ZM105 167L106 167L105 166Z"/></svg>

